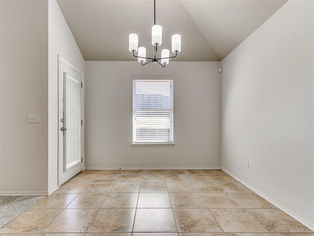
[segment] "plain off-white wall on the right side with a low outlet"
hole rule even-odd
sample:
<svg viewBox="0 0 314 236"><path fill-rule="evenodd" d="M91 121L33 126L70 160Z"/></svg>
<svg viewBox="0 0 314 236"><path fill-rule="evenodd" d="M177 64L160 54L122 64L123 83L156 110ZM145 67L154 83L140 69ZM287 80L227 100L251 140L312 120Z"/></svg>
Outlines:
<svg viewBox="0 0 314 236"><path fill-rule="evenodd" d="M222 61L223 169L312 230L313 10L288 1Z"/></svg>

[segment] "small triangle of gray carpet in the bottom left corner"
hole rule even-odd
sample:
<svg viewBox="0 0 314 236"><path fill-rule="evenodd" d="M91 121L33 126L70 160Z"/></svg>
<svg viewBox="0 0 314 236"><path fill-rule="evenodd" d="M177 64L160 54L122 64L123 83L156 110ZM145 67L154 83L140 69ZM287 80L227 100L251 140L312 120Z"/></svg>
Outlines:
<svg viewBox="0 0 314 236"><path fill-rule="evenodd" d="M0 228L14 220L45 196L0 196Z"/></svg>

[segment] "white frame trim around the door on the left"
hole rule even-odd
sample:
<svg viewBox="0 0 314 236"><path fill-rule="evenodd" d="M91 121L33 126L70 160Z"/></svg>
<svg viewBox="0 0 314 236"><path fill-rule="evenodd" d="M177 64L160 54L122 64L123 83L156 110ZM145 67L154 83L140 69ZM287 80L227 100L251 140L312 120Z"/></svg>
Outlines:
<svg viewBox="0 0 314 236"><path fill-rule="evenodd" d="M60 161L63 162L63 144L61 145L61 142L63 143L63 138L61 138L61 134L62 132L60 131L61 126L63 125L63 123L60 122L60 118L61 118L61 114L63 114L63 109L61 111L61 108L63 106L61 106L61 102L63 103L63 71L61 71L61 64L64 64L68 67L70 67L71 69L73 69L75 72L77 72L80 76L81 76L81 84L84 81L84 73L79 70L76 66L74 66L72 63L70 63L69 61L67 61L66 59L62 58L60 55L58 55L58 186L60 187L61 183L61 174L63 172L63 169L61 168L60 165ZM83 116L84 116L84 90L83 87L80 90L80 118L81 120L83 120ZM63 134L62 134L63 136ZM81 162L81 170L84 170L84 148L83 148L83 141L84 141L84 129L82 124L80 125L80 153L81 153L81 158L83 158L83 161ZM61 148L62 147L62 148ZM62 150L61 150L62 149Z"/></svg>

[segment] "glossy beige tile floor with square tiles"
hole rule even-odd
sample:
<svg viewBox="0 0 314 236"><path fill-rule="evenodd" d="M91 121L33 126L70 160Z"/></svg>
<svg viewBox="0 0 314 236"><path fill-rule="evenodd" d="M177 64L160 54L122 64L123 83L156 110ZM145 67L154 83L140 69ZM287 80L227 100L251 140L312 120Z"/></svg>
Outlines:
<svg viewBox="0 0 314 236"><path fill-rule="evenodd" d="M222 171L84 171L0 236L314 236Z"/></svg>

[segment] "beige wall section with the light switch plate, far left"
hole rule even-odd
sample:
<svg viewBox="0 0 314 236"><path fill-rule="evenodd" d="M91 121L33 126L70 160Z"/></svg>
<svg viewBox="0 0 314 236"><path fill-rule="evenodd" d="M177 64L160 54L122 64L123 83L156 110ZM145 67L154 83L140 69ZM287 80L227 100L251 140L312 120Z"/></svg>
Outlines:
<svg viewBox="0 0 314 236"><path fill-rule="evenodd" d="M48 1L1 0L0 31L0 193L46 193Z"/></svg>

